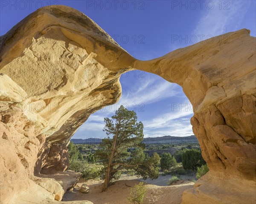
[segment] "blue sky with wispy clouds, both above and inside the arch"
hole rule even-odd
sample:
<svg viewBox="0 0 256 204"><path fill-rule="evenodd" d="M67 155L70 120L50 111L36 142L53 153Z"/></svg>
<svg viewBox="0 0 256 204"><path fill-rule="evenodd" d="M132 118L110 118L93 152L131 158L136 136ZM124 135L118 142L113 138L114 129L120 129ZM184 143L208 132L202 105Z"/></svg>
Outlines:
<svg viewBox="0 0 256 204"><path fill-rule="evenodd" d="M241 28L256 36L256 1L0 1L0 35L41 6L78 9L132 56L141 60L163 56L177 48ZM105 137L104 117L123 104L137 112L145 137L192 135L189 100L179 85L154 74L132 71L120 78L119 104L93 113L73 138Z"/></svg>

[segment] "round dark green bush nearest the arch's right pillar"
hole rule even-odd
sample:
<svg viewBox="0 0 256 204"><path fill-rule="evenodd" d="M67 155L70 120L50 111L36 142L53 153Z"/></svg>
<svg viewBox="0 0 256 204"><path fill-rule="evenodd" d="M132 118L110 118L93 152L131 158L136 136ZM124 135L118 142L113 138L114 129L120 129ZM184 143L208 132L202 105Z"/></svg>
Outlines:
<svg viewBox="0 0 256 204"><path fill-rule="evenodd" d="M201 167L203 164L206 164L206 162L199 150L186 150L186 152L182 154L182 165L185 170L196 170L197 167Z"/></svg>

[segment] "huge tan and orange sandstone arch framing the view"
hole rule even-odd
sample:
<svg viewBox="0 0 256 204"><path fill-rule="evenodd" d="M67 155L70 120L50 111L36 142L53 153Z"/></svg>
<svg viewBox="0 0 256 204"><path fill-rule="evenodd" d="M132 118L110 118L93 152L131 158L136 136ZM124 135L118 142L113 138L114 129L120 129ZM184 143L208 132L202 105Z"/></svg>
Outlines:
<svg viewBox="0 0 256 204"><path fill-rule="evenodd" d="M91 113L119 100L120 75L139 69L182 86L193 105L210 172L182 202L255 203L256 40L249 33L140 61L73 8L30 14L1 37L1 202L60 201L80 177L67 171L70 138Z"/></svg>

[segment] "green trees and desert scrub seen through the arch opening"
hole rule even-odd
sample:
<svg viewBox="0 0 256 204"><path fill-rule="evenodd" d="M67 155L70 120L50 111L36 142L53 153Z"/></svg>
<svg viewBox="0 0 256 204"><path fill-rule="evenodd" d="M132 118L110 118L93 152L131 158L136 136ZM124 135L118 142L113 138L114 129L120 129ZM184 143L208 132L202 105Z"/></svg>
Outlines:
<svg viewBox="0 0 256 204"><path fill-rule="evenodd" d="M171 185L182 179L195 181L209 170L198 143L144 144L143 124L123 106L111 119L105 118L105 124L108 137L100 144L68 145L70 170L86 179L101 178L103 191L122 175L144 179L171 175L167 182Z"/></svg>

